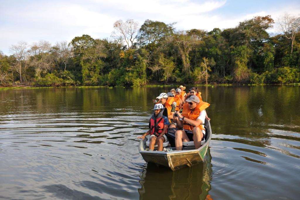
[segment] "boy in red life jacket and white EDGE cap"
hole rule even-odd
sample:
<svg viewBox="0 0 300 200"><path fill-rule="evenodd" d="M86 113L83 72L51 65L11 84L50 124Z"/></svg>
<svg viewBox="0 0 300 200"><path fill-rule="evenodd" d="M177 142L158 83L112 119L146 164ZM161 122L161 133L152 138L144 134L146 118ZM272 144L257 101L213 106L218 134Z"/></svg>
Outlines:
<svg viewBox="0 0 300 200"><path fill-rule="evenodd" d="M167 132L168 126L170 124L169 119L163 115L164 106L161 103L155 104L154 113L150 118L149 130L143 134L143 136L138 137L145 139L145 136L150 136L149 151L154 150L154 145L157 143L157 151L163 151L163 143L167 141Z"/></svg>

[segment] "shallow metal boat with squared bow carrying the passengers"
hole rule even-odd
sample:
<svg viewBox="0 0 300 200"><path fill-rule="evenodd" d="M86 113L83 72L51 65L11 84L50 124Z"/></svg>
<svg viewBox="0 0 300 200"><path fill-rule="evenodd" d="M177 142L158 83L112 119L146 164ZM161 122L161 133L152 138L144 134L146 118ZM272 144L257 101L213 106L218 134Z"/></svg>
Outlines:
<svg viewBox="0 0 300 200"><path fill-rule="evenodd" d="M209 121L205 120L204 125L207 127L205 143L198 149L191 149L191 146L188 146L189 148L185 147L181 151L176 151L175 148L167 148L166 151L147 151L148 147L146 146L146 141L148 138L146 137L144 140L140 141L140 154L147 163L156 163L158 165L170 167L173 171L185 166L190 167L194 164L203 162L212 135Z"/></svg>

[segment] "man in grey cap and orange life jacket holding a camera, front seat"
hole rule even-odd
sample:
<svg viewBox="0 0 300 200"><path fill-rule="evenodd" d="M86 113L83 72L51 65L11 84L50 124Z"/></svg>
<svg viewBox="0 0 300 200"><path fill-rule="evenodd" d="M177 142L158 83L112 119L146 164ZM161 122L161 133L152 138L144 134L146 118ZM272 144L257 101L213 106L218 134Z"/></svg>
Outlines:
<svg viewBox="0 0 300 200"><path fill-rule="evenodd" d="M175 133L176 150L182 150L182 141L194 141L195 149L200 148L201 140L204 139L205 129L202 124L205 121L205 108L210 104L204 101L200 102L199 97L192 95L184 104L182 113L178 115L177 126L183 127L183 130L177 130ZM174 117L176 117L174 115Z"/></svg>

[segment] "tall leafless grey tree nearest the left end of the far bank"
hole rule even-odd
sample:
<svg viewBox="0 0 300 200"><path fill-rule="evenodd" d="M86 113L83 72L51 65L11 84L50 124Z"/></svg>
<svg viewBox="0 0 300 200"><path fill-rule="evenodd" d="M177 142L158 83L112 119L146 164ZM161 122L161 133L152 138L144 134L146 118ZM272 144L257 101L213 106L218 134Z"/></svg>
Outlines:
<svg viewBox="0 0 300 200"><path fill-rule="evenodd" d="M16 57L16 64L13 65L13 68L16 69L17 73L20 76L20 83L22 84L22 73L23 70L27 67L27 51L28 44L26 42L18 42L16 45L10 47L10 52Z"/></svg>

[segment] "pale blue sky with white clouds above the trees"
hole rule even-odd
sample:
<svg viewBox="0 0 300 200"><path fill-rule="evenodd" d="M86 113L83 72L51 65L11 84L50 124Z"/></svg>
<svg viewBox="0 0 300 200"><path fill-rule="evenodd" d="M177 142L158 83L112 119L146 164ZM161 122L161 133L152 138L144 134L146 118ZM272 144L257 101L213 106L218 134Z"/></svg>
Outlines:
<svg viewBox="0 0 300 200"><path fill-rule="evenodd" d="M0 51L10 55L10 46L19 41L29 45L46 40L52 44L88 34L109 38L113 23L146 19L167 24L177 30L192 28L234 28L253 16L271 15L277 21L285 12L300 14L300 1L294 0L1 0ZM278 32L276 28L268 30Z"/></svg>

